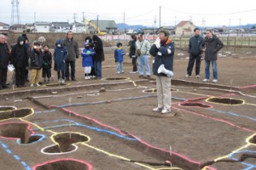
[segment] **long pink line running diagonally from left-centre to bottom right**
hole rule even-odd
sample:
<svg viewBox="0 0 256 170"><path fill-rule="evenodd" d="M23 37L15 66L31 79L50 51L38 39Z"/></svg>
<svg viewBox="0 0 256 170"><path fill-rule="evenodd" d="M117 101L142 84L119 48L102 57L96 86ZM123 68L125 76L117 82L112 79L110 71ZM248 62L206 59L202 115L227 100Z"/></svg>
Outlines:
<svg viewBox="0 0 256 170"><path fill-rule="evenodd" d="M84 119L88 119L88 120L90 120L90 121L92 121L92 122L96 122L96 124L98 124L98 125L100 125L100 126L102 126L102 127L108 127L108 128L110 128L110 129L113 129L114 131L116 131L116 132L118 132L118 133L120 133L120 134L122 134L122 135L127 135L127 134L122 133L122 132L121 132L119 129L117 129L117 128L114 128L114 127L108 126L108 125L106 125L106 124L103 124L102 122L96 121L96 119L90 118L90 117L88 117L88 116L81 116L81 115L79 115L78 113L76 113L76 112L74 112L74 111L71 111L71 110L68 110L68 109L62 108L62 110L67 111L67 112L70 112L70 113L72 113L72 114L75 115L75 116L83 117ZM137 139L138 141L140 141L141 143L147 145L147 146L150 147L150 148L154 148L154 149L156 149L156 150L165 151L165 152L167 152L167 153L170 152L169 150L165 150L165 149L162 149L162 148L158 148L158 147L156 147L156 146L153 146L153 145L151 145L151 144L148 144L147 142L143 141L142 139L139 139L136 135L133 135L133 134L131 134L131 133L129 133L129 135L131 135L133 138ZM172 152L172 154L174 154L174 155L176 155L176 156L179 156L179 157L183 158L183 160L189 161L190 163L194 163L194 164L198 164L198 165L201 164L201 162L199 162L199 161L193 161L193 160L189 159L189 157L183 156L183 155L178 154L178 153L176 153L176 152ZM215 169L212 168L212 170L215 170Z"/></svg>

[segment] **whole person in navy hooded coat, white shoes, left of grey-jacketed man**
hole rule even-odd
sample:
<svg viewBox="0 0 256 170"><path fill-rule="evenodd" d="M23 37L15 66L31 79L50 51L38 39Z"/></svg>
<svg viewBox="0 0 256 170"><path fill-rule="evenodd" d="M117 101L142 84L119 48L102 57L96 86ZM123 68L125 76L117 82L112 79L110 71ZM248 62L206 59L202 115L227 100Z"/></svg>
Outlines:
<svg viewBox="0 0 256 170"><path fill-rule="evenodd" d="M57 39L55 43L55 71L58 74L58 82L65 82L65 71L66 64L65 60L67 59L67 48L64 47L63 40L61 38Z"/></svg>

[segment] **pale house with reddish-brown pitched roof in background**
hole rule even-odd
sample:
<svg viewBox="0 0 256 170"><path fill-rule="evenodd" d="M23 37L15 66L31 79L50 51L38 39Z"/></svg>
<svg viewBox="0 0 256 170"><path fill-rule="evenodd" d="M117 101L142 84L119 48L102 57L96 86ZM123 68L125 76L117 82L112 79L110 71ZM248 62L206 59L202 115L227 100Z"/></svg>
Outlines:
<svg viewBox="0 0 256 170"><path fill-rule="evenodd" d="M175 34L177 36L191 36L193 35L195 25L189 20L183 20L177 24Z"/></svg>

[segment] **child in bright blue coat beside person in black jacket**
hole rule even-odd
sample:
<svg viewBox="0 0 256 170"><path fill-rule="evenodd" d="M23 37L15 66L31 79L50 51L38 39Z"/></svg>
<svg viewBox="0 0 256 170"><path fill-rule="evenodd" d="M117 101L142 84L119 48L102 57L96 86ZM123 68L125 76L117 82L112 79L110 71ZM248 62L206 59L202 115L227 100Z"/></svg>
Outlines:
<svg viewBox="0 0 256 170"><path fill-rule="evenodd" d="M84 79L90 79L90 71L93 65L92 57L95 55L94 50L90 47L90 42L84 42L84 48L81 52L82 55L82 66L84 67Z"/></svg>

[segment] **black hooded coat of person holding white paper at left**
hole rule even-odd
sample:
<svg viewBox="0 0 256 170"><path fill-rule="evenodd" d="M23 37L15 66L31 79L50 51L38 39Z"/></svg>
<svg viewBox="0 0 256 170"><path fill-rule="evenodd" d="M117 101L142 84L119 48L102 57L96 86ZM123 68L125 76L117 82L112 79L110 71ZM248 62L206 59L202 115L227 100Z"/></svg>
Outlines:
<svg viewBox="0 0 256 170"><path fill-rule="evenodd" d="M23 45L20 45L20 42L23 42ZM17 43L11 51L11 64L15 65L15 67L26 67L29 59L28 50L24 37L18 37Z"/></svg>

